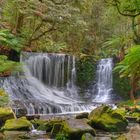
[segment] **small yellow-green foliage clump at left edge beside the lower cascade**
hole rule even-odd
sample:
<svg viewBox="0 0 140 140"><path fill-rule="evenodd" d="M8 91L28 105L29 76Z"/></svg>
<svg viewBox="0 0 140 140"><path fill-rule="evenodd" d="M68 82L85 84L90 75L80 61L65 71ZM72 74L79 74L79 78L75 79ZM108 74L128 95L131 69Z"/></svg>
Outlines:
<svg viewBox="0 0 140 140"><path fill-rule="evenodd" d="M9 104L9 96L3 89L0 89L0 107L4 107Z"/></svg>

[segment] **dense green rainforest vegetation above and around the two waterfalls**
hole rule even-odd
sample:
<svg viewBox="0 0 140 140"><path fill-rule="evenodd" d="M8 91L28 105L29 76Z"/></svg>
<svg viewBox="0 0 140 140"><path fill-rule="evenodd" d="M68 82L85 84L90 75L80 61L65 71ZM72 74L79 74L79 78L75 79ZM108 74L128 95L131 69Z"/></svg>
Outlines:
<svg viewBox="0 0 140 140"><path fill-rule="evenodd" d="M79 60L77 83L85 86L97 60L113 57L121 61L114 75L123 77L114 84L134 98L140 80L139 9L139 0L1 0L0 75L17 69L22 51L67 53Z"/></svg>

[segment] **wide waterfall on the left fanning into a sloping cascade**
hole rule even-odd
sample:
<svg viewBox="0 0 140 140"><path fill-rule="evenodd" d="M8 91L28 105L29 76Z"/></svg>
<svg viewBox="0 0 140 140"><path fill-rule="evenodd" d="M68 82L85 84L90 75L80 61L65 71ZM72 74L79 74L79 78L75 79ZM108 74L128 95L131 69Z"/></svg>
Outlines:
<svg viewBox="0 0 140 140"><path fill-rule="evenodd" d="M75 57L64 54L23 53L24 74L0 80L14 103L27 114L89 111L91 105L77 101ZM15 105L16 104L16 105Z"/></svg>

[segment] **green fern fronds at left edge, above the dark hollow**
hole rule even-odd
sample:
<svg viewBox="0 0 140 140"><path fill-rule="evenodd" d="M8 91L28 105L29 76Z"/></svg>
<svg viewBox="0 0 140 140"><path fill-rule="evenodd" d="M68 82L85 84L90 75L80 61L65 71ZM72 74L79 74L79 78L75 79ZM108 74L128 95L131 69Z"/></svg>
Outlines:
<svg viewBox="0 0 140 140"><path fill-rule="evenodd" d="M23 48L23 39L12 34L9 30L0 30L0 45L19 52Z"/></svg>

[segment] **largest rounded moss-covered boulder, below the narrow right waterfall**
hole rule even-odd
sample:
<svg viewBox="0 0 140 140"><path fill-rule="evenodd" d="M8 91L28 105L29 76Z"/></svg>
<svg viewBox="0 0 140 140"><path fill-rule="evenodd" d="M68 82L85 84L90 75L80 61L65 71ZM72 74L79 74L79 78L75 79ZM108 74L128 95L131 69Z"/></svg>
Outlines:
<svg viewBox="0 0 140 140"><path fill-rule="evenodd" d="M109 132L123 131L128 125L125 117L109 106L101 106L93 110L89 115L89 120L92 127Z"/></svg>

